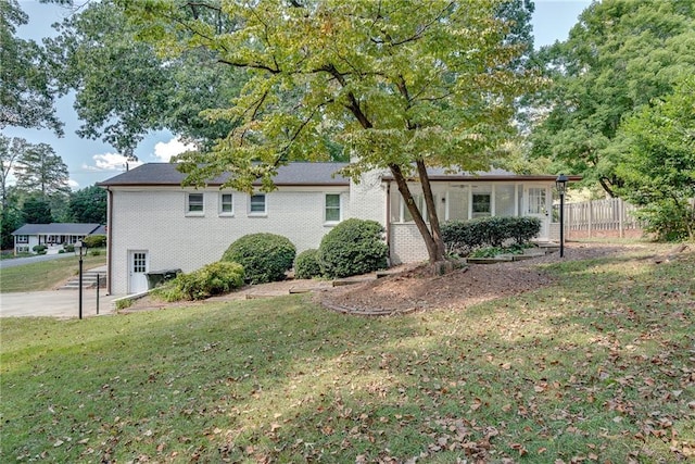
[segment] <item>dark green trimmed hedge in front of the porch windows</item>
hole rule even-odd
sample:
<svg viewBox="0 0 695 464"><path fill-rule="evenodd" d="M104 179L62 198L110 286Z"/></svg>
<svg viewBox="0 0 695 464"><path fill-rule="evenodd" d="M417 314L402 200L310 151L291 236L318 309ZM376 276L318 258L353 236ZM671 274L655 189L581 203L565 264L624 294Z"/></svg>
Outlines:
<svg viewBox="0 0 695 464"><path fill-rule="evenodd" d="M514 240L522 244L541 231L538 217L494 216L472 221L448 221L442 224L442 239L450 253L468 255L480 247L501 248Z"/></svg>

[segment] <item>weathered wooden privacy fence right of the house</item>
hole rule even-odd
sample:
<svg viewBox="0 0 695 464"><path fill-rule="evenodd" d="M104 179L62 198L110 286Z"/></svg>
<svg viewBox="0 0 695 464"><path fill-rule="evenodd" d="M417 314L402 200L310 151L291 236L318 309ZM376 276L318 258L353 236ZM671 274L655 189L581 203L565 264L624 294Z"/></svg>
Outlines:
<svg viewBox="0 0 695 464"><path fill-rule="evenodd" d="M579 238L636 238L642 226L636 208L620 198L565 204L565 236Z"/></svg>

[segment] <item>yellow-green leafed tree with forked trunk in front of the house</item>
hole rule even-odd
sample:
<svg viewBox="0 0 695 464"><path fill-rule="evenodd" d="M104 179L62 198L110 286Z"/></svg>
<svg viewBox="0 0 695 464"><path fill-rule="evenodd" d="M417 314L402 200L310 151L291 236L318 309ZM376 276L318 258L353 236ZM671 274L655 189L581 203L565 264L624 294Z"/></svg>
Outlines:
<svg viewBox="0 0 695 464"><path fill-rule="evenodd" d="M344 174L391 172L431 262L444 249L427 167L488 170L489 150L513 131L516 98L536 81L522 60L532 11L522 1L119 3L159 50L203 48L248 77L231 104L204 112L229 133L178 158L188 184L227 172L228 186L262 178L269 189L279 165L324 160L336 140L351 156Z"/></svg>

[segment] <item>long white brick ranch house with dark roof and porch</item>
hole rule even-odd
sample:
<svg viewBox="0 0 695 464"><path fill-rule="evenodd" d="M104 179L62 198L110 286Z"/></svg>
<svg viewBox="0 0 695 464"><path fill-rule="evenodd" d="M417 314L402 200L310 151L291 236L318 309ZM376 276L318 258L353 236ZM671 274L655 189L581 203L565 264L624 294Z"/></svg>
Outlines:
<svg viewBox="0 0 695 464"><path fill-rule="evenodd" d="M174 164L143 164L101 184L109 191L109 291L147 290L146 273L194 271L218 261L235 240L252 233L288 237L298 252L318 248L343 220L374 220L384 226L393 264L427 260L427 250L388 173L370 172L358 184L336 173L344 163L292 163L278 170L277 189L253 195L220 189L182 188ZM558 235L552 223L555 176L523 176L504 171L480 174L431 172L440 221L482 216L534 216L539 240ZM260 186L258 186L260 187ZM412 189L419 208L418 183Z"/></svg>

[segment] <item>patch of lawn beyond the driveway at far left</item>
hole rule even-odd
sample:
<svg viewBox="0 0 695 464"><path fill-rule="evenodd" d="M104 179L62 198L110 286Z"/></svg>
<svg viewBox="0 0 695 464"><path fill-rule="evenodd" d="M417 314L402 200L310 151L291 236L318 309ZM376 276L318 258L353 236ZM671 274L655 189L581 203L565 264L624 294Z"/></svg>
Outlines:
<svg viewBox="0 0 695 464"><path fill-rule="evenodd" d="M106 253L99 256L88 254L83 258L85 271L106 264ZM41 261L0 271L0 292L50 290L79 272L79 259L74 253L64 258Z"/></svg>

